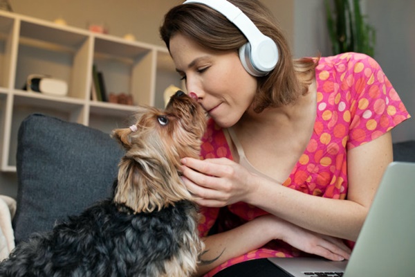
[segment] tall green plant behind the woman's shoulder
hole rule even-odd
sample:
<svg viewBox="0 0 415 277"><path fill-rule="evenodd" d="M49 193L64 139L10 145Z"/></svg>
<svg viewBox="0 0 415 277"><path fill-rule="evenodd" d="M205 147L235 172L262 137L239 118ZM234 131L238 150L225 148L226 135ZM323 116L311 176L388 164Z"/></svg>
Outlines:
<svg viewBox="0 0 415 277"><path fill-rule="evenodd" d="M376 30L365 22L360 0L325 0L333 54L358 52L374 56Z"/></svg>

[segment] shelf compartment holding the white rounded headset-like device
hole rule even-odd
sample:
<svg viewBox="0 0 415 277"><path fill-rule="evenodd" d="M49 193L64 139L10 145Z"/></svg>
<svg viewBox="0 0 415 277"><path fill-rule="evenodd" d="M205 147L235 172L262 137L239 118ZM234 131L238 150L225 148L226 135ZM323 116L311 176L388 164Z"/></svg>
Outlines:
<svg viewBox="0 0 415 277"><path fill-rule="evenodd" d="M48 75L67 82L68 97L85 99L91 47L87 33L21 21L15 89L23 89L30 74Z"/></svg>

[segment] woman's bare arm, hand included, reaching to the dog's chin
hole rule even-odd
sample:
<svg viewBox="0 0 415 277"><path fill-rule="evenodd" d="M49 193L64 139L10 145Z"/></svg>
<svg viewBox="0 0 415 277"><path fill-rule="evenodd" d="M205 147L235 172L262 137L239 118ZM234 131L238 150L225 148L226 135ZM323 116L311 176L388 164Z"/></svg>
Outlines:
<svg viewBox="0 0 415 277"><path fill-rule="evenodd" d="M185 159L183 175L187 188L200 197L197 202L202 206L243 201L304 229L356 240L392 156L390 132L349 150L347 200L314 197L276 186L228 159Z"/></svg>

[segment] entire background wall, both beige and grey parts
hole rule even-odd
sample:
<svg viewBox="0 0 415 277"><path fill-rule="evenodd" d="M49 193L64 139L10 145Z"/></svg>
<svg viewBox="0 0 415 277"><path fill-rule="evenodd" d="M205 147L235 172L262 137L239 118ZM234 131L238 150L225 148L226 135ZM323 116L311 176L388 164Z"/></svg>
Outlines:
<svg viewBox="0 0 415 277"><path fill-rule="evenodd" d="M53 21L66 19L79 28L104 23L111 35L163 46L158 26L169 8L182 0L9 0L15 12ZM261 0L286 30L295 57L330 55L324 0ZM362 0L362 10L377 30L375 58L415 116L415 1ZM415 120L396 127L394 141L415 140Z"/></svg>

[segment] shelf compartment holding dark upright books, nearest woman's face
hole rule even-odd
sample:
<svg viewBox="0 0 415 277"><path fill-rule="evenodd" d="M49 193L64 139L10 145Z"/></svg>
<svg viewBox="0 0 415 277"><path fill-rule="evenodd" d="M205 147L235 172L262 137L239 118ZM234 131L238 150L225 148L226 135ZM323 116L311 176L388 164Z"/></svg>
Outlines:
<svg viewBox="0 0 415 277"><path fill-rule="evenodd" d="M111 36L95 37L93 64L104 75L109 93L127 93L134 105L152 105L154 94L154 50L146 44L126 42Z"/></svg>

